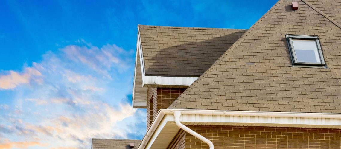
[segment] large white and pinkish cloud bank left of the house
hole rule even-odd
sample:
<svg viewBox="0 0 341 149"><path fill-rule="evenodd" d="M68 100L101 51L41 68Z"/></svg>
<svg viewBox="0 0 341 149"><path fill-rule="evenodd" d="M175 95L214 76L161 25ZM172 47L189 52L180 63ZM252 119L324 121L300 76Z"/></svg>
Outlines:
<svg viewBox="0 0 341 149"><path fill-rule="evenodd" d="M0 148L90 148L91 138L137 139L145 111L132 109L132 51L69 45L22 71L0 72ZM142 128L143 127L143 128ZM141 129L142 128L142 129Z"/></svg>

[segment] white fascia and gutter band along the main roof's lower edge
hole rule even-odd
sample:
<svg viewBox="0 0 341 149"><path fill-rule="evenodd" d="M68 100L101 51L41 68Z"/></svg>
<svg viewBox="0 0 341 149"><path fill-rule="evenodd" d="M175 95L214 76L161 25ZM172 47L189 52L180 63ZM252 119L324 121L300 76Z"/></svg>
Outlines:
<svg viewBox="0 0 341 149"><path fill-rule="evenodd" d="M300 128L341 128L341 114L303 113L303 112L260 112L224 111L197 109L160 109L157 121L144 136L144 144L139 149L152 146L167 122L175 122L174 112L180 111L180 122L184 125L221 125L221 126L271 126ZM159 117L159 118L158 118ZM167 122L165 122L167 121ZM162 125L159 125L161 122ZM155 131L156 130L156 131Z"/></svg>

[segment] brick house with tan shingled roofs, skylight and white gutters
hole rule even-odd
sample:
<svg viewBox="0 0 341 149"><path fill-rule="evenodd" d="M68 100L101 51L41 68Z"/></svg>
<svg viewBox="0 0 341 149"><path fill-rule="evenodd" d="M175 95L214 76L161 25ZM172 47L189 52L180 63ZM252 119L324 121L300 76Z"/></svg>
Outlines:
<svg viewBox="0 0 341 149"><path fill-rule="evenodd" d="M340 23L340 0L279 0L248 30L138 25L138 148L341 148Z"/></svg>

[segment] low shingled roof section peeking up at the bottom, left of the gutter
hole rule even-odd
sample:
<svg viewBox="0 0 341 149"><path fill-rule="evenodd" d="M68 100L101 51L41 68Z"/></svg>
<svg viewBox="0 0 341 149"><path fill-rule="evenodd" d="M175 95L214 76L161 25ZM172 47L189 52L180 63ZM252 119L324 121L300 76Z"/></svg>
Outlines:
<svg viewBox="0 0 341 149"><path fill-rule="evenodd" d="M134 143L134 148L137 148L140 142L141 140L92 138L92 149L130 149L130 143Z"/></svg>

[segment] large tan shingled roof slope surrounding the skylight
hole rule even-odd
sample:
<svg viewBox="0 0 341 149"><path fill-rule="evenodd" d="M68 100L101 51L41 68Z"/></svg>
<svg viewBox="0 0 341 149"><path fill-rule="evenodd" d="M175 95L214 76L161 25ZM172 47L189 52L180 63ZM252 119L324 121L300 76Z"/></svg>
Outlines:
<svg viewBox="0 0 341 149"><path fill-rule="evenodd" d="M169 108L341 113L341 29L310 5L278 1ZM318 35L329 69L292 67L285 34Z"/></svg>

